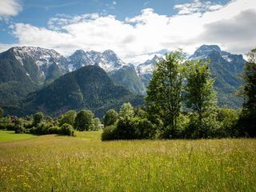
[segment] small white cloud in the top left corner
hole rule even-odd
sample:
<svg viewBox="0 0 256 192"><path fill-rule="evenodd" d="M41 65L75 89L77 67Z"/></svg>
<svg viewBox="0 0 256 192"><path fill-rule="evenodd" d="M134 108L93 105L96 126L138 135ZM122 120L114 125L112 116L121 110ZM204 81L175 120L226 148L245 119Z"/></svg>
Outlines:
<svg viewBox="0 0 256 192"><path fill-rule="evenodd" d="M17 15L22 10L18 0L1 0L0 1L0 20L7 19L10 16Z"/></svg>

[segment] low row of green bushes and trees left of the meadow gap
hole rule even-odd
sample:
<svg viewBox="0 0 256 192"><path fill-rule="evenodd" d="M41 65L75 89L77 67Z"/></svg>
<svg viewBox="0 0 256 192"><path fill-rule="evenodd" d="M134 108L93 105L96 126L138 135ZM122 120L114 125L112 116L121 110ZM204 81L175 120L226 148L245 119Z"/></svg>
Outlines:
<svg viewBox="0 0 256 192"><path fill-rule="evenodd" d="M3 111L0 108L0 118ZM16 134L60 134L75 136L74 130L100 130L101 121L90 110L69 110L59 118L37 112L25 118L7 115L0 120L0 129L14 130Z"/></svg>

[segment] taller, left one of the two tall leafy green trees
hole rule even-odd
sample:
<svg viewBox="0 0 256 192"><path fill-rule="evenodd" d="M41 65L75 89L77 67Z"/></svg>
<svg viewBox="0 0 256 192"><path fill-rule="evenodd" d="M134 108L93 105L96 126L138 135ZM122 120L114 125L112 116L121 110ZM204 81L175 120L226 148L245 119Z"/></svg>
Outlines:
<svg viewBox="0 0 256 192"><path fill-rule="evenodd" d="M165 127L164 137L170 138L172 132L177 129L178 116L181 112L182 101L182 64L185 54L182 50L176 50L166 54L155 64L153 78L150 80L146 102L158 109Z"/></svg>

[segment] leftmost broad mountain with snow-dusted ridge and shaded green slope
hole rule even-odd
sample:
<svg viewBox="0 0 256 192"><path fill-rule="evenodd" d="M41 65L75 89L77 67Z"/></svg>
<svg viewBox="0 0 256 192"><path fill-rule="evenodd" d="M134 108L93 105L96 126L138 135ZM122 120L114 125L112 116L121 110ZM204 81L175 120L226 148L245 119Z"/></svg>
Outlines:
<svg viewBox="0 0 256 192"><path fill-rule="evenodd" d="M13 47L0 54L0 105L14 105L44 83L67 71L67 62L55 50Z"/></svg>

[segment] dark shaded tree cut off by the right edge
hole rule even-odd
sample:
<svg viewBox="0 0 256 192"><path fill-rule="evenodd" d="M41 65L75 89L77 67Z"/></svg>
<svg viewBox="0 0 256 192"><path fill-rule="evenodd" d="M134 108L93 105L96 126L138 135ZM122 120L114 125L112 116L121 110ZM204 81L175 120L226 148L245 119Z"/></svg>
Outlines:
<svg viewBox="0 0 256 192"><path fill-rule="evenodd" d="M242 124L246 134L256 137L256 47L247 54L248 61L244 67L244 86L242 95L244 102L242 105Z"/></svg>

